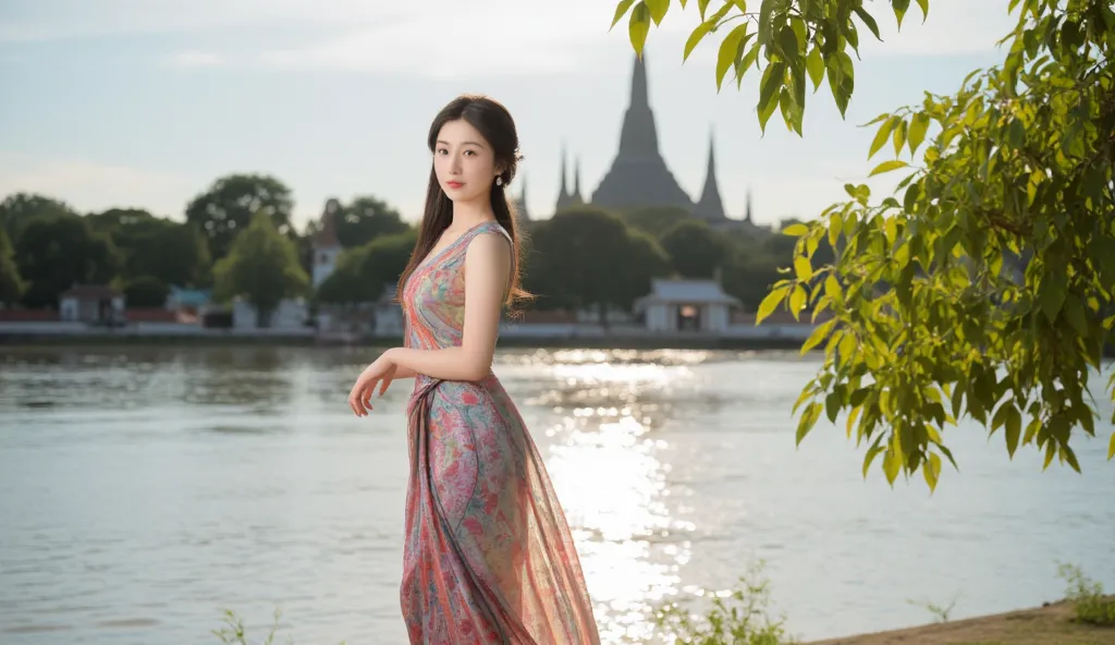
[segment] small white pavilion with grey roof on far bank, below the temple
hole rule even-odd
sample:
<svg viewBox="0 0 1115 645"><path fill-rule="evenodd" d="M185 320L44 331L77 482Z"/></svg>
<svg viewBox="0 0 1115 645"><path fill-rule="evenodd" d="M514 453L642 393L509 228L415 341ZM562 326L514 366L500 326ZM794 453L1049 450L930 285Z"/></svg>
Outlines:
<svg viewBox="0 0 1115 645"><path fill-rule="evenodd" d="M716 280L656 279L634 310L650 331L723 334L731 324L731 308L740 306Z"/></svg>

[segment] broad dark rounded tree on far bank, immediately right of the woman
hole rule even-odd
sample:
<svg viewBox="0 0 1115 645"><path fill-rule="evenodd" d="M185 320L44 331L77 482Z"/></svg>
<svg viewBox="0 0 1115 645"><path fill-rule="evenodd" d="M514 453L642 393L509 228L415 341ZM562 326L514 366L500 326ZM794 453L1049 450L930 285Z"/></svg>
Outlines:
<svg viewBox="0 0 1115 645"><path fill-rule="evenodd" d="M629 307L647 293L650 278L669 273L669 259L644 233L593 206L572 206L531 233L527 289L568 308Z"/></svg>

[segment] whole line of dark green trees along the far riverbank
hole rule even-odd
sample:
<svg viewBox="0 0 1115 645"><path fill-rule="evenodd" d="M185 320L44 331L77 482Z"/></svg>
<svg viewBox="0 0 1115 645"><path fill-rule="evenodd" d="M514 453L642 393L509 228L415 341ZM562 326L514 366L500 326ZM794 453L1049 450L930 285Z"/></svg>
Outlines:
<svg viewBox="0 0 1115 645"><path fill-rule="evenodd" d="M340 204L336 271L314 292L314 219L291 223L292 191L268 175L217 179L186 205L183 220L142 209L79 213L61 200L16 193L0 202L0 302L55 308L75 283L107 283L129 307L161 307L171 286L241 296L262 324L283 298L356 304L376 300L406 266L417 229L374 196ZM792 222L784 222L792 223ZM657 277L719 278L754 310L793 238L755 227L717 231L681 209L611 212L574 206L523 227L526 288L537 309L627 309ZM822 250L821 252L831 250Z"/></svg>

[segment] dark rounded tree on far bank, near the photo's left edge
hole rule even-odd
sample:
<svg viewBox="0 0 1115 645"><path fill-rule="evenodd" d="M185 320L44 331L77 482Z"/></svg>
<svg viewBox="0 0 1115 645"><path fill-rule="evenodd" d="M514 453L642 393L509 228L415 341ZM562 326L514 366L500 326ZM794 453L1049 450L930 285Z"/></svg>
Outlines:
<svg viewBox="0 0 1115 645"><path fill-rule="evenodd" d="M116 278L120 254L80 215L36 216L19 235L16 266L28 282L23 305L57 307L58 296L75 283L106 285Z"/></svg>

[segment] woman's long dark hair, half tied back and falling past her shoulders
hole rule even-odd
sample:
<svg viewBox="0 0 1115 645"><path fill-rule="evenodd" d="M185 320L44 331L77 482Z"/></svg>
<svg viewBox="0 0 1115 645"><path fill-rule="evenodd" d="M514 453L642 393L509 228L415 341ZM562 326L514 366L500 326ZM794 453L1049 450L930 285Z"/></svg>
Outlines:
<svg viewBox="0 0 1115 645"><path fill-rule="evenodd" d="M515 129L514 119L511 118L511 113L500 102L486 96L465 94L449 102L434 117L434 123L430 124L429 134L426 137L430 154L434 153L442 126L457 119L464 119L484 136L495 154L496 166L503 167L503 173L500 174L503 185L492 183L491 200L492 212L495 213L496 221L507 231L512 241L511 288L507 291L506 301L510 306L516 300L531 297L520 285L521 233L515 228L515 206L507 199L505 192L511 180L515 177L518 162L522 158L518 153L518 133ZM399 277L397 290L399 298L403 297L403 288L406 286L407 279L434 249L442 232L449 228L452 222L453 200L442 190L442 184L437 181L437 173L430 163L429 184L426 187L426 210L423 213L418 241L410 253L410 261L407 262L407 268Z"/></svg>

